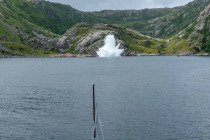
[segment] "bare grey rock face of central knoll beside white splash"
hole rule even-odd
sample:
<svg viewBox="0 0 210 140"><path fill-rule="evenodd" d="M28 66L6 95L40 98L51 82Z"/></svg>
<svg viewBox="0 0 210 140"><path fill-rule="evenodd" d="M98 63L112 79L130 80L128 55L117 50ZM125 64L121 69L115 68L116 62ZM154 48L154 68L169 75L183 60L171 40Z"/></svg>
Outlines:
<svg viewBox="0 0 210 140"><path fill-rule="evenodd" d="M77 26L68 30L63 36L57 39L57 47L63 49L74 48L74 54L85 54L89 56L97 56L96 51L104 45L104 38L108 34L115 34L114 29L120 27L96 24L93 26L87 26L85 24L78 24ZM82 29L81 29L82 28ZM83 34L78 34L78 30L89 31ZM116 39L117 44L121 44L120 47L124 47L122 40Z"/></svg>

